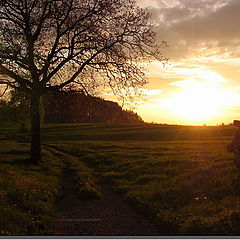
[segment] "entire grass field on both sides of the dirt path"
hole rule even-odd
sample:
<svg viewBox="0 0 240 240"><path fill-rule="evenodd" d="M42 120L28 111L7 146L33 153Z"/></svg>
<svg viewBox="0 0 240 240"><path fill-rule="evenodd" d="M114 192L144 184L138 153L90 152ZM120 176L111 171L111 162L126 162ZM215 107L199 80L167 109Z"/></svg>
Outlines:
<svg viewBox="0 0 240 240"><path fill-rule="evenodd" d="M53 204L60 194L62 159L68 158L80 185L85 181L82 176L93 173L110 181L166 235L239 235L240 195L232 184L237 170L226 151L235 130L49 124L42 129L46 163L29 167L25 163L29 134L1 129L1 208L7 203L0 217L0 226L5 226L1 234L54 234L49 231ZM38 193L32 191L35 188ZM43 203L50 210L43 210ZM11 218L16 219L13 226L5 221Z"/></svg>

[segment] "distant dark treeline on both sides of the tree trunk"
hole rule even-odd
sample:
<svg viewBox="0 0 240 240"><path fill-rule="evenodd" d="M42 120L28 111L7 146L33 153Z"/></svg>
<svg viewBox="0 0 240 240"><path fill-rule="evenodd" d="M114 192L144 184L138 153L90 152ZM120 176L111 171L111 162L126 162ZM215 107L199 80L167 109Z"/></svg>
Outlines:
<svg viewBox="0 0 240 240"><path fill-rule="evenodd" d="M41 122L45 123L143 123L133 111L123 110L116 102L83 93L51 92L41 101ZM0 99L0 126L30 123L30 99L12 90L8 100Z"/></svg>

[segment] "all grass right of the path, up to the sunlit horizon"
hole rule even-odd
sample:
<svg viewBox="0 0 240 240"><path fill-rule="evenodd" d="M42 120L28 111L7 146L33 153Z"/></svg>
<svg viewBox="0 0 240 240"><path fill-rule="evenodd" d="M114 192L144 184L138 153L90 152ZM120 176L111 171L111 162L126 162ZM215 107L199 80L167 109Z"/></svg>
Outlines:
<svg viewBox="0 0 240 240"><path fill-rule="evenodd" d="M240 234L240 197L233 185L237 172L226 152L234 128L154 125L147 132L147 125L93 127L78 125L74 132L71 126L58 126L57 134L63 138L66 132L66 141L53 143L50 137L48 144L94 168L164 234ZM46 138L54 135L49 130ZM143 135L137 140L134 132ZM88 141L76 140L80 135Z"/></svg>

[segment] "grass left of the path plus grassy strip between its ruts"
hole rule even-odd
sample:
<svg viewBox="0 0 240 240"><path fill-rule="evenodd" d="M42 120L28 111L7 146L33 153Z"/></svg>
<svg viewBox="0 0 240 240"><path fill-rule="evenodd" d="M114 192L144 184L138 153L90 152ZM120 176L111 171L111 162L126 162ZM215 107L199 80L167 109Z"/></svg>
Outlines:
<svg viewBox="0 0 240 240"><path fill-rule="evenodd" d="M42 164L30 164L28 141L29 133L0 129L0 235L55 235L62 170L73 172L79 197L101 197L92 170L74 156L43 145Z"/></svg>

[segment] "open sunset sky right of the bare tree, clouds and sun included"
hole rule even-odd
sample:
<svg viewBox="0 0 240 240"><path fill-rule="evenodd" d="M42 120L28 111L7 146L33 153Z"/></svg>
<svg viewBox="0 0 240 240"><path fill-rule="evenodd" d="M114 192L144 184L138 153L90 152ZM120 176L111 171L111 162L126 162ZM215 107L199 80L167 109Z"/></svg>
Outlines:
<svg viewBox="0 0 240 240"><path fill-rule="evenodd" d="M169 58L147 67L135 111L146 122L216 125L240 119L240 0L138 0Z"/></svg>

